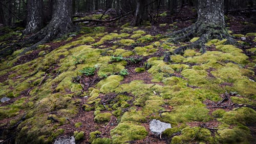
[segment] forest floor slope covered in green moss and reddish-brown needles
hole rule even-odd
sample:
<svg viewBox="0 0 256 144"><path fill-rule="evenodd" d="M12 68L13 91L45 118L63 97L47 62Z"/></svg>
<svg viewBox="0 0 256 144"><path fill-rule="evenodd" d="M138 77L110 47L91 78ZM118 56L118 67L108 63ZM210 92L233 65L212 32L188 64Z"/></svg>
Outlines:
<svg viewBox="0 0 256 144"><path fill-rule="evenodd" d="M256 33L246 15L227 15L240 45L211 40L207 51L164 54L190 42L165 43L166 33L195 22L159 17L140 27L91 23L25 55L0 63L0 142L50 143L74 135L77 143L254 143ZM1 45L22 37L5 30ZM191 41L195 40L192 39ZM170 123L161 136L157 119Z"/></svg>

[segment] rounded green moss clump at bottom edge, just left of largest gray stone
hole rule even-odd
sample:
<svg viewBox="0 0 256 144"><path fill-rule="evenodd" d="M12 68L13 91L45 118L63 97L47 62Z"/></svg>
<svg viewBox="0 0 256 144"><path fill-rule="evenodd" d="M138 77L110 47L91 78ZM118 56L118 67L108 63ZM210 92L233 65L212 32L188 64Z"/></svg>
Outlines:
<svg viewBox="0 0 256 144"><path fill-rule="evenodd" d="M120 123L110 132L113 143L127 143L126 141L143 139L148 134L143 126L136 123Z"/></svg>

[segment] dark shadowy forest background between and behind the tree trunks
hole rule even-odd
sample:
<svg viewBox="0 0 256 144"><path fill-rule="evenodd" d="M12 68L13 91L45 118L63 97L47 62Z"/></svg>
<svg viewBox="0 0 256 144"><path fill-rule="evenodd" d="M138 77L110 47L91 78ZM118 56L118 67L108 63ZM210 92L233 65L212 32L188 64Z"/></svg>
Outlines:
<svg viewBox="0 0 256 144"><path fill-rule="evenodd" d="M52 17L54 0L41 0L42 16L44 25L46 25ZM148 5L147 15L150 21L154 22L159 11L166 10L167 13L174 14L184 10L184 7L197 8L197 0L151 0L146 1ZM0 23L11 26L15 24L26 25L28 7L26 0L1 0L0 1ZM73 16L86 16L91 13L106 13L113 16L119 16L132 10L135 10L137 1L132 0L73 0ZM254 11L256 1L254 0L225 0L225 13ZM132 18L132 16L131 16ZM251 21L255 23L255 21Z"/></svg>

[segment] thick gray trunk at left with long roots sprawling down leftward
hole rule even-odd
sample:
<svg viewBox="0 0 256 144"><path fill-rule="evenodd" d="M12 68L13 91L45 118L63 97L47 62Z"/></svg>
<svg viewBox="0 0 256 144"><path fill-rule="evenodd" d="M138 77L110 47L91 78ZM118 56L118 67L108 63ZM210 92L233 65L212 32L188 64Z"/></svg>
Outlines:
<svg viewBox="0 0 256 144"><path fill-rule="evenodd" d="M24 40L23 45L28 43L35 44L24 49L20 54L36 49L38 45L49 42L72 30L72 0L55 0L54 2L53 16L50 23L35 35Z"/></svg>

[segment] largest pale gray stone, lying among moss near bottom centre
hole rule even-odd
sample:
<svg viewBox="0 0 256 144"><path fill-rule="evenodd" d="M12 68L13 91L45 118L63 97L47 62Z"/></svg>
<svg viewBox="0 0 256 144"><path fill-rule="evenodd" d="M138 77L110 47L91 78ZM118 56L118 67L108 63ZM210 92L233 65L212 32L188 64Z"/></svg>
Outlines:
<svg viewBox="0 0 256 144"><path fill-rule="evenodd" d="M150 122L150 130L155 135L160 135L164 130L172 128L170 124L161 122L159 120L152 120Z"/></svg>

